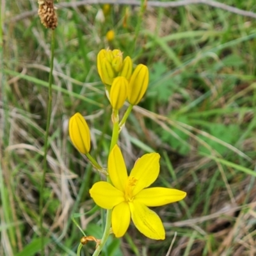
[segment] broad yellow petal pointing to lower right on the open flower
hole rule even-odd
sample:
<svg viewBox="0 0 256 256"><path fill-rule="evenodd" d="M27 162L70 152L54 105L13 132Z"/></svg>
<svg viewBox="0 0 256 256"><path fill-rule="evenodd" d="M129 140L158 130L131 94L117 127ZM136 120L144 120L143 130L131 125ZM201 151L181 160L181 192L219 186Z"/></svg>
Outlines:
<svg viewBox="0 0 256 256"><path fill-rule="evenodd" d="M143 235L156 240L165 238L163 223L156 212L136 200L130 202L129 206L132 221Z"/></svg>

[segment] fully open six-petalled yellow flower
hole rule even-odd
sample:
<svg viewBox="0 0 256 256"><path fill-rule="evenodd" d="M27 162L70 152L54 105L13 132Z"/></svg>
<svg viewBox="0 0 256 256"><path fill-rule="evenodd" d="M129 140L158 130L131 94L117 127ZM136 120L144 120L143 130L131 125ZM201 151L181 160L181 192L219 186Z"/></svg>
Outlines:
<svg viewBox="0 0 256 256"><path fill-rule="evenodd" d="M186 193L177 189L148 188L159 175L159 154L145 154L139 158L127 175L120 148L117 145L109 154L108 172L113 185L96 182L90 195L97 205L113 209L111 223L116 237L124 236L132 219L142 234L151 239L164 239L161 219L148 207L182 200Z"/></svg>

